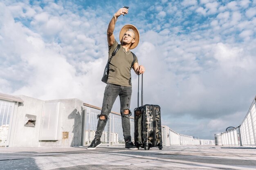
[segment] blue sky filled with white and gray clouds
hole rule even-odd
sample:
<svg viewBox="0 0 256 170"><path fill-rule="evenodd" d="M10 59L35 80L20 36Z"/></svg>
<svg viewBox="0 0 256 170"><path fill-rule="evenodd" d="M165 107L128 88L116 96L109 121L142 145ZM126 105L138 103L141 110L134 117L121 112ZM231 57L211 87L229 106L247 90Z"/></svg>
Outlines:
<svg viewBox="0 0 256 170"><path fill-rule="evenodd" d="M101 107L106 30L123 6L114 34L139 29L144 104L162 124L200 139L240 125L256 95L256 0L0 0L0 93Z"/></svg>

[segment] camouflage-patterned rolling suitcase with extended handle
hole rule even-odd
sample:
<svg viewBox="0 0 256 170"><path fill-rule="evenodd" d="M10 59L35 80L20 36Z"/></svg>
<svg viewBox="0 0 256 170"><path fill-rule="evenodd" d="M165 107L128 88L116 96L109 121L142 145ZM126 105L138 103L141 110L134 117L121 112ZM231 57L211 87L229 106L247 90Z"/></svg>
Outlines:
<svg viewBox="0 0 256 170"><path fill-rule="evenodd" d="M160 106L143 105L143 75L141 83L141 106L139 107L139 85L138 85L138 107L134 109L134 140L135 146L149 150L158 147L162 150L162 130Z"/></svg>

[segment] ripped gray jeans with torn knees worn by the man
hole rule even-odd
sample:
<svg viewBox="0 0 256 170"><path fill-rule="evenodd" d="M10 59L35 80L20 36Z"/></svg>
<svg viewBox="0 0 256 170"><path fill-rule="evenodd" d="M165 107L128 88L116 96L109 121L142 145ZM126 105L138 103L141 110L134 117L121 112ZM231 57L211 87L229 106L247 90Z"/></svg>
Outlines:
<svg viewBox="0 0 256 170"><path fill-rule="evenodd" d="M120 113L122 118L122 127L124 133L124 140L131 140L130 135L130 99L132 95L132 87L119 86L115 84L107 84L104 92L103 104L101 109L101 115L105 116L105 119L101 120L98 115L99 121L97 125L97 131L95 132L95 138L100 139L102 132L107 124L108 115L111 112L112 106L117 99L117 96L120 97ZM124 114L124 112L128 115Z"/></svg>

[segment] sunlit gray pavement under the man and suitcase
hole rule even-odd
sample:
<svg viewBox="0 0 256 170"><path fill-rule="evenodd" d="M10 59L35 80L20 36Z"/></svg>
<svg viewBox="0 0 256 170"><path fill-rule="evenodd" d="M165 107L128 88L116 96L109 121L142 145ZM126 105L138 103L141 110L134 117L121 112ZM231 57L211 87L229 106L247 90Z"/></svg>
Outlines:
<svg viewBox="0 0 256 170"><path fill-rule="evenodd" d="M125 150L124 146L0 148L0 170L255 170L256 148L164 146Z"/></svg>

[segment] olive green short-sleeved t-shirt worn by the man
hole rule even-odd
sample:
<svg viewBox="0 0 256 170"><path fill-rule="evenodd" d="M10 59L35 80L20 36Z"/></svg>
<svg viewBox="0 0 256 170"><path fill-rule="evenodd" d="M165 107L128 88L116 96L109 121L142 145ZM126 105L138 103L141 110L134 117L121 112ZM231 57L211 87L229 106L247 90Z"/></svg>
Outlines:
<svg viewBox="0 0 256 170"><path fill-rule="evenodd" d="M115 43L108 49L108 58L111 57L112 52L117 47L118 42ZM127 54L126 54L127 53ZM125 49L120 46L116 55L112 58L109 65L108 82L110 84L117 84L120 86L132 86L131 82L131 66L133 62L133 55L130 51L125 52ZM135 57L135 62L138 62Z"/></svg>

